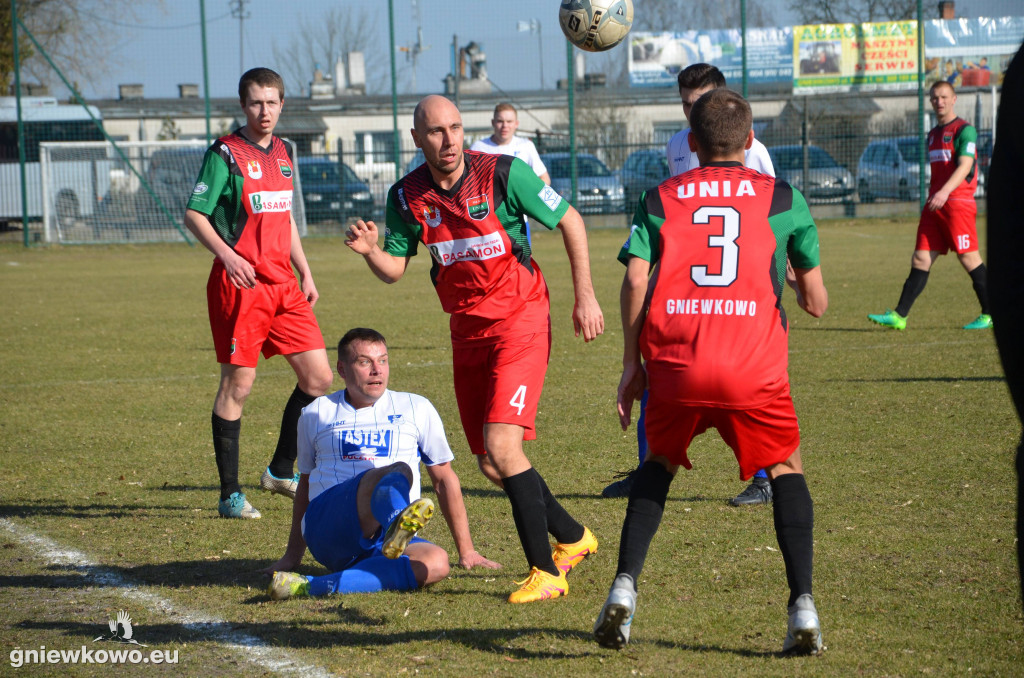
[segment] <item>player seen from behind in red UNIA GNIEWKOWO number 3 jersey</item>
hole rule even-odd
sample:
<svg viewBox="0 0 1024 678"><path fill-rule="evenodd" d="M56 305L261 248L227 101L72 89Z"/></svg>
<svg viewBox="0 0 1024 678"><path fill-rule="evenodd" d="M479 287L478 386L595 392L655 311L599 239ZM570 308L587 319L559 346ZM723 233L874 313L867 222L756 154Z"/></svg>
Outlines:
<svg viewBox="0 0 1024 678"><path fill-rule="evenodd" d="M782 649L816 653L822 645L811 591L813 506L790 397L781 298L788 255L798 304L814 316L825 311L817 229L800 192L743 167L754 133L741 96L708 92L690 120L689 143L701 167L644 194L618 255L627 266L618 417L627 428L647 383L648 451L630 493L616 576L594 635L609 647L629 641L636 583L669 486L679 466L691 467L690 441L716 428L735 454L740 477L764 468L772 484L790 584Z"/></svg>

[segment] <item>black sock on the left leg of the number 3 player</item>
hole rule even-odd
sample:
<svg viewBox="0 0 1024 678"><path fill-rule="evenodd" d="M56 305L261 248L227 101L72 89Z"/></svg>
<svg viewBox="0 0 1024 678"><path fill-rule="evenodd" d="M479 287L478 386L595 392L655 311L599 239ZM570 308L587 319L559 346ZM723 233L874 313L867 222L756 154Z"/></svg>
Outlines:
<svg viewBox="0 0 1024 678"><path fill-rule="evenodd" d="M672 484L672 473L654 462L644 462L637 471L626 507L623 536L618 542L616 575L629 575L640 581L640 570L647 559L647 549L654 539L665 512L665 500Z"/></svg>

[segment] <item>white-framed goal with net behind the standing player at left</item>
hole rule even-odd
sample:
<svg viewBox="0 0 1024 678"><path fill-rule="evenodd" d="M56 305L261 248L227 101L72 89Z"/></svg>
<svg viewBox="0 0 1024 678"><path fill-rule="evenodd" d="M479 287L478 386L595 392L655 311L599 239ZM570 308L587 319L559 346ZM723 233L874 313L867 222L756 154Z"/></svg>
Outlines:
<svg viewBox="0 0 1024 678"><path fill-rule="evenodd" d="M297 160L295 144L285 141ZM207 147L202 140L40 143L43 238L63 244L191 242L185 205ZM298 172L294 181L292 215L305 236Z"/></svg>

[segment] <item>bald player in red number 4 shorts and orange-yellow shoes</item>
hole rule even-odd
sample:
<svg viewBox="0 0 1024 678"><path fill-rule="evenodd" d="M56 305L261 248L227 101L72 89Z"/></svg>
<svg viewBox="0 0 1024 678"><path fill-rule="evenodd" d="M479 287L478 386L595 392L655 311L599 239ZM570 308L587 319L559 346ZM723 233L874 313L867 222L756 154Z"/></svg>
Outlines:
<svg viewBox="0 0 1024 678"><path fill-rule="evenodd" d="M551 348L548 287L530 257L523 217L561 229L575 291L572 322L590 341L604 331L604 317L583 219L521 160L463 152L462 117L444 97L424 98L413 119L413 140L426 162L388 194L383 249L373 222L355 222L346 244L387 283L402 277L420 243L430 252L430 279L452 315L463 429L480 470L508 495L530 566L509 602L557 598L568 592L566 573L597 550L597 540L523 453L523 439L536 437Z"/></svg>

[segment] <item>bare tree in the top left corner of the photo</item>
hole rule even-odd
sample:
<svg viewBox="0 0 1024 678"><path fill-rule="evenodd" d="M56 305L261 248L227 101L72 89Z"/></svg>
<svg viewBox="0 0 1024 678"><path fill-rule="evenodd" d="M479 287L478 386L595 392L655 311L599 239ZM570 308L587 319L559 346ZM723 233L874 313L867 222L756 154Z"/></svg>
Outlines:
<svg viewBox="0 0 1024 678"><path fill-rule="evenodd" d="M11 39L10 0L0 0L0 89L9 91L14 75ZM112 19L137 19L162 0L19 0L18 17L39 41L40 46L70 81L94 84L109 68L112 42L117 31ZM48 87L60 85L60 79L28 36L18 33L22 78Z"/></svg>

